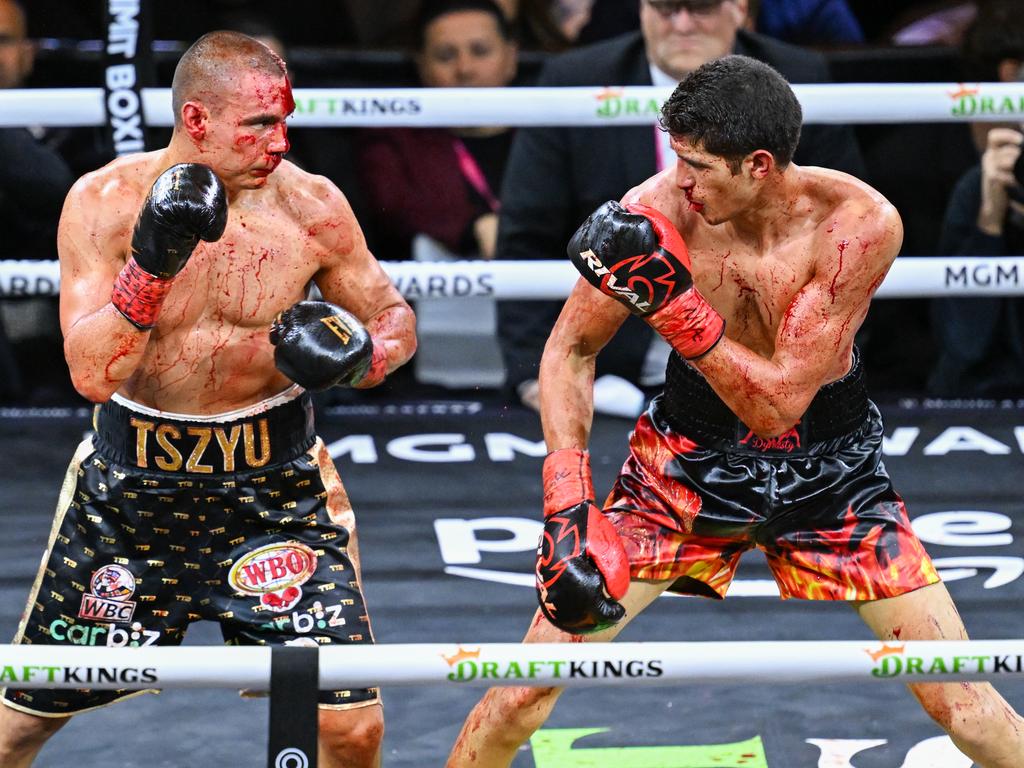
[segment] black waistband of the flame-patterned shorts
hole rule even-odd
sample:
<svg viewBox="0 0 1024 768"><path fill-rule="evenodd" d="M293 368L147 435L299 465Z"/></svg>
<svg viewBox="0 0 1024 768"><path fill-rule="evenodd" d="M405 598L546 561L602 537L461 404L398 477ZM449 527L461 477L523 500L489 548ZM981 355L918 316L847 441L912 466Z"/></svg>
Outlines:
<svg viewBox="0 0 1024 768"><path fill-rule="evenodd" d="M665 392L655 399L654 413L673 431L707 447L793 454L857 430L867 419L869 407L864 369L854 348L850 372L821 387L793 429L777 437L758 437L703 376L673 352L665 374Z"/></svg>

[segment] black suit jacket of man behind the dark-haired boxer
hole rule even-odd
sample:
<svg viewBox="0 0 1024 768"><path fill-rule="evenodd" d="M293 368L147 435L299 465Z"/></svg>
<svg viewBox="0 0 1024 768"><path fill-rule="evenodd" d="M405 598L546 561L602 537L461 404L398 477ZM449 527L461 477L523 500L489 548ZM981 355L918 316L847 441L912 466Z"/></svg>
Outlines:
<svg viewBox="0 0 1024 768"><path fill-rule="evenodd" d="M740 31L735 53L770 63L793 83L828 82L820 53ZM639 32L553 56L538 86L651 85ZM607 200L618 200L656 172L654 128L648 125L520 128L502 186L500 259L561 259L580 223ZM849 126L808 125L794 161L864 175ZM502 302L499 331L508 384L537 377L541 352L561 302ZM598 358L598 373L637 381L650 332L630 318Z"/></svg>

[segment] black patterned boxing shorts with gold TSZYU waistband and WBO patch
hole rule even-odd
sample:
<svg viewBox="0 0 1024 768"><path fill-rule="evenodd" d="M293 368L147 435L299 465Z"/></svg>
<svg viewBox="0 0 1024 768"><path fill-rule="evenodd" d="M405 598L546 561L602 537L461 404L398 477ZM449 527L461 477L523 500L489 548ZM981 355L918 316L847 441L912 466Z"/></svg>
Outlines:
<svg viewBox="0 0 1024 768"><path fill-rule="evenodd" d="M203 418L116 397L94 426L15 642L178 645L199 620L218 622L228 645L373 642L352 509L302 390ZM89 683L152 680L128 655L120 664L56 668L80 689L7 688L4 703L60 717L137 692ZM375 688L319 696L332 709L377 699Z"/></svg>

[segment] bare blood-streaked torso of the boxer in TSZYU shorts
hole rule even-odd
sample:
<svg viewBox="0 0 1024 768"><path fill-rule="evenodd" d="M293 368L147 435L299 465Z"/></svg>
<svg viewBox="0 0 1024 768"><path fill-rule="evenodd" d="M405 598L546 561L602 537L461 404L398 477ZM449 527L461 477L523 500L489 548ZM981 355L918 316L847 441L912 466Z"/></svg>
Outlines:
<svg viewBox="0 0 1024 768"><path fill-rule="evenodd" d="M133 169L138 183L117 207L123 255L160 168ZM132 199L134 197L134 199ZM273 362L274 316L306 297L330 226L316 209L314 177L285 163L266 187L232 200L216 243L201 242L164 302L135 373L119 393L163 411L211 414L275 394L291 382ZM337 222L335 226L337 226Z"/></svg>

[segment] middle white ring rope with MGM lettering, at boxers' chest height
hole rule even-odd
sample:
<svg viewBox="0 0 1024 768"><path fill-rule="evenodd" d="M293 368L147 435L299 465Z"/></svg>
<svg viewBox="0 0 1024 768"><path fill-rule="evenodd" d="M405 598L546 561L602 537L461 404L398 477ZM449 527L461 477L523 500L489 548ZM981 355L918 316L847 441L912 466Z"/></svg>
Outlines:
<svg viewBox="0 0 1024 768"><path fill-rule="evenodd" d="M411 300L467 296L564 299L579 278L566 260L384 261L381 265ZM56 296L59 290L56 261L0 261L0 298ZM877 296L905 299L1022 294L1022 256L908 256L896 260Z"/></svg>

